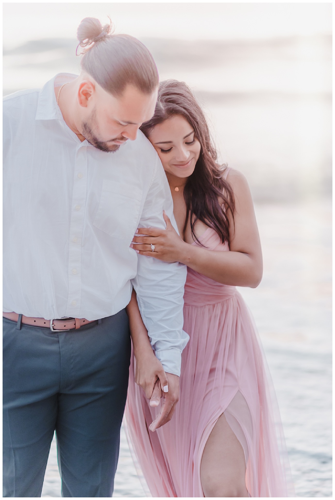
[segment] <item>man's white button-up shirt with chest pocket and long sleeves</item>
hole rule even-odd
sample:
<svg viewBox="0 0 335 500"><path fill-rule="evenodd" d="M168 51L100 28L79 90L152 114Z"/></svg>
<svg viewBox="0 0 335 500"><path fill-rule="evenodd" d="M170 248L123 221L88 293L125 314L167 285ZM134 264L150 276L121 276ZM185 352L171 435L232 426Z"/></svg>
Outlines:
<svg viewBox="0 0 335 500"><path fill-rule="evenodd" d="M115 314L137 292L166 371L180 373L186 267L129 247L136 228L165 228L173 203L159 157L138 132L116 152L81 142L63 120L54 86L3 101L3 310L26 316Z"/></svg>

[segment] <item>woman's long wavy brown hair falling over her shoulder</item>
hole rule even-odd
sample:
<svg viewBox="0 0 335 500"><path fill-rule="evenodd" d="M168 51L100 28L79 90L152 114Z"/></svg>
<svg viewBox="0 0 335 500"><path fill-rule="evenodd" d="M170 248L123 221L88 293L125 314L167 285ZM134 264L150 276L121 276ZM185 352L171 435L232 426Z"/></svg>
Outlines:
<svg viewBox="0 0 335 500"><path fill-rule="evenodd" d="M222 166L217 163L217 152L211 141L206 118L186 83L177 80L162 81L159 85L155 114L143 123L140 129L148 137L158 123L174 115L181 115L189 122L201 145L194 172L188 177L184 187L186 219L183 236L185 238L190 220L192 236L201 243L194 232L195 223L199 219L215 229L223 243L227 241L230 244L227 211L230 210L234 218L233 189L223 178Z"/></svg>

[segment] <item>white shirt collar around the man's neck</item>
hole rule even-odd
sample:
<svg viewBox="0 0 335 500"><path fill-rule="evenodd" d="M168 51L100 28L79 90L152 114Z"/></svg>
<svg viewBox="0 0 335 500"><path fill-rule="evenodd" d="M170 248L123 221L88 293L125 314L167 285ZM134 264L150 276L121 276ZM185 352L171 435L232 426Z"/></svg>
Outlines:
<svg viewBox="0 0 335 500"><path fill-rule="evenodd" d="M72 73L58 73L45 83L38 94L36 120L62 119L62 114L54 93L54 81L58 76L64 81L70 81L77 78L78 75Z"/></svg>

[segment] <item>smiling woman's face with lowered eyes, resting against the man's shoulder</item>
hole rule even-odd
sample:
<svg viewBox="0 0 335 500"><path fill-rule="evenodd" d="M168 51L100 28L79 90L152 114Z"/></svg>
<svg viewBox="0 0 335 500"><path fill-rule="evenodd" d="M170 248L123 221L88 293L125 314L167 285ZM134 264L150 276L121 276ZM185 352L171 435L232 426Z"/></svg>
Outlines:
<svg viewBox="0 0 335 500"><path fill-rule="evenodd" d="M176 114L156 125L149 134L149 140L161 159L169 178L189 177L200 154L200 142L194 129L181 115Z"/></svg>

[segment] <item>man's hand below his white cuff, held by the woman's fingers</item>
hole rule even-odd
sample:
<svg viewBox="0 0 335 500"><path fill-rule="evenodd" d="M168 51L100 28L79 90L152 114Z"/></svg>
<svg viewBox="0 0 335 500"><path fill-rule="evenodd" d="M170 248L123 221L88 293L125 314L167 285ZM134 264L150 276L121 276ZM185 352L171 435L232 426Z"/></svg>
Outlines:
<svg viewBox="0 0 335 500"><path fill-rule="evenodd" d="M168 392L165 392L166 389L162 391L160 381L157 380L150 399L150 406L157 406L161 396L164 397L157 418L149 425L152 432L171 420L179 399L179 376L172 373L166 373L166 376L168 379ZM156 401L158 402L156 403ZM155 404L152 404L152 402Z"/></svg>

